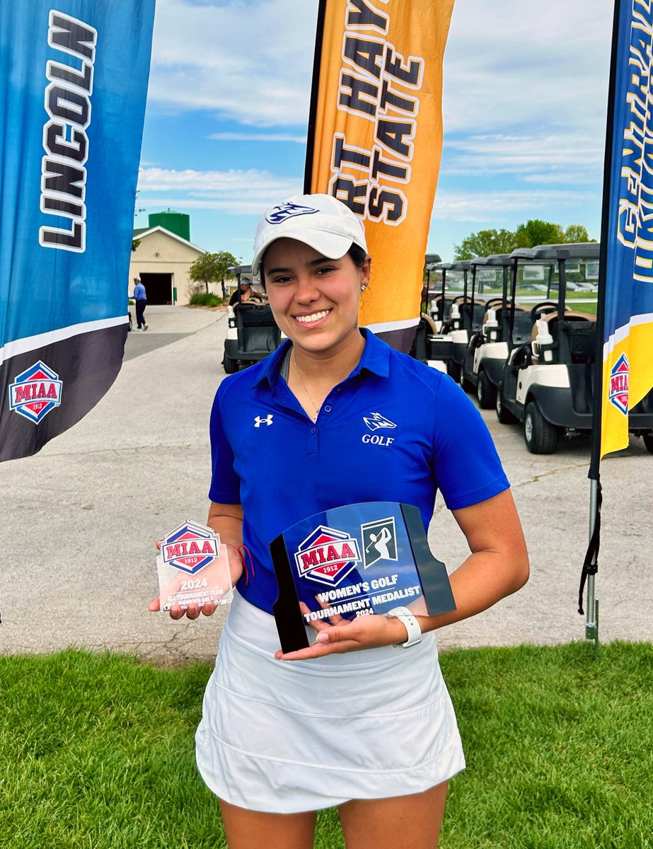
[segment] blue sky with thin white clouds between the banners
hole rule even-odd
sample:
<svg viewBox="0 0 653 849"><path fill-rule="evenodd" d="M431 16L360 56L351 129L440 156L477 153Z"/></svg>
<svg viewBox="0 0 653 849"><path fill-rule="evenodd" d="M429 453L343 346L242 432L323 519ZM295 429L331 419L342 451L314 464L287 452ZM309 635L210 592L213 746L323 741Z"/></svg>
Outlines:
<svg viewBox="0 0 653 849"><path fill-rule="evenodd" d="M456 0L427 251L528 218L600 235L613 0ZM251 261L256 221L301 192L318 0L157 0L136 227Z"/></svg>

